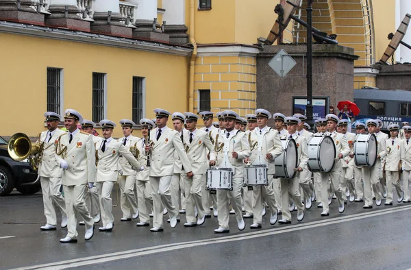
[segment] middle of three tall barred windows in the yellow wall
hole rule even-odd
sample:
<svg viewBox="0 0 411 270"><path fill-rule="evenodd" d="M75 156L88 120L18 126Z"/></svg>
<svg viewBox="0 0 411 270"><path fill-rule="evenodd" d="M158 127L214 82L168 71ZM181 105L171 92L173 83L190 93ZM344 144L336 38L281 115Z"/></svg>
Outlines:
<svg viewBox="0 0 411 270"><path fill-rule="evenodd" d="M105 73L92 73L92 121L99 123L104 119Z"/></svg>

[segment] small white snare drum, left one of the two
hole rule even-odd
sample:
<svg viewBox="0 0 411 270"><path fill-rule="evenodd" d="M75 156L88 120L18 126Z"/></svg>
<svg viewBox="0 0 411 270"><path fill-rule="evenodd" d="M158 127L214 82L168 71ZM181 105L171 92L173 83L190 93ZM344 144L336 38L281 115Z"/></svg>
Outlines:
<svg viewBox="0 0 411 270"><path fill-rule="evenodd" d="M209 168L207 170L206 190L215 191L217 189L233 190L233 170L230 168Z"/></svg>

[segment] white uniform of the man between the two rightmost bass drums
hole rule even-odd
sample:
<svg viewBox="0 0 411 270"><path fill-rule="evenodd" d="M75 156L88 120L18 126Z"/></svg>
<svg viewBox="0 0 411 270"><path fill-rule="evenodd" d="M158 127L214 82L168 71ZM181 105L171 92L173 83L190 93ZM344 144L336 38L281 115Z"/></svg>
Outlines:
<svg viewBox="0 0 411 270"><path fill-rule="evenodd" d="M356 140L356 134L351 132L346 132L343 134L347 139L347 143L350 149L350 153L354 151L354 140ZM350 158L346 156L343 159L343 176L341 177L341 189L343 190L343 194L349 192L349 196L355 197L356 196L356 187L353 180L354 176L354 158Z"/></svg>

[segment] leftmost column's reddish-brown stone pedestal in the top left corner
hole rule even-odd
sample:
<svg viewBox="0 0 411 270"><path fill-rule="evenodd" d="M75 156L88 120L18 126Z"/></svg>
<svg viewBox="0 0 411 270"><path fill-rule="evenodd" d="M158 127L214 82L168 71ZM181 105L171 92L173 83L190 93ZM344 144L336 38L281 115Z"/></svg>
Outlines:
<svg viewBox="0 0 411 270"><path fill-rule="evenodd" d="M43 24L45 15L36 12L34 5L30 0L0 0L0 20Z"/></svg>

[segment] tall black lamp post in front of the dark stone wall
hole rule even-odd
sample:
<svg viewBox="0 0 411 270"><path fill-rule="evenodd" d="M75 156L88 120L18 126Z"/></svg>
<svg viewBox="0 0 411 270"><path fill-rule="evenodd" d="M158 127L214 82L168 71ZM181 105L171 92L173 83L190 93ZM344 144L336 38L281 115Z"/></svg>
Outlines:
<svg viewBox="0 0 411 270"><path fill-rule="evenodd" d="M307 3L307 123L314 127L312 121L312 2Z"/></svg>

